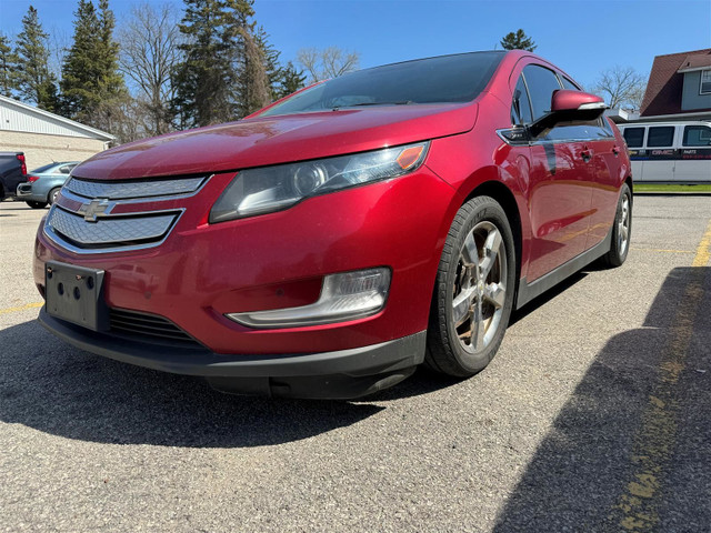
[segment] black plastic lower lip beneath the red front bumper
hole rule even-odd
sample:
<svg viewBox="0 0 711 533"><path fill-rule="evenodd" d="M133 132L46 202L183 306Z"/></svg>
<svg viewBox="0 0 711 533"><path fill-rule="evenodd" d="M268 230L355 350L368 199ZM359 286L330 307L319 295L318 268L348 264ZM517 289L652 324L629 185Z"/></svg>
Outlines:
<svg viewBox="0 0 711 533"><path fill-rule="evenodd" d="M352 399L391 386L424 360L425 332L324 353L222 355L207 348L167 346L86 328L50 316L39 322L88 352L177 374L207 378L222 392L311 399Z"/></svg>

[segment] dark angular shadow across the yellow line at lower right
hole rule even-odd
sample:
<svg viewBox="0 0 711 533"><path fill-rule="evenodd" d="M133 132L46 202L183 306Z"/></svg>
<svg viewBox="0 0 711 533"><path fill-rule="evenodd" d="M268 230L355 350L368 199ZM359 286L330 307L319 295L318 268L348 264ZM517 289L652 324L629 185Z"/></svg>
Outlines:
<svg viewBox="0 0 711 533"><path fill-rule="evenodd" d="M643 328L611 338L597 354L500 511L495 533L708 531L710 271L672 270ZM698 285L698 313L684 315L689 288ZM684 320L693 320L692 326L684 330ZM685 364L679 381L669 385L665 372L681 350ZM657 413L658 403L675 409L673 416ZM640 433L640 428L648 431ZM652 481L639 470L650 456L658 463ZM640 484L657 490L645 494ZM642 522L635 522L640 516Z"/></svg>

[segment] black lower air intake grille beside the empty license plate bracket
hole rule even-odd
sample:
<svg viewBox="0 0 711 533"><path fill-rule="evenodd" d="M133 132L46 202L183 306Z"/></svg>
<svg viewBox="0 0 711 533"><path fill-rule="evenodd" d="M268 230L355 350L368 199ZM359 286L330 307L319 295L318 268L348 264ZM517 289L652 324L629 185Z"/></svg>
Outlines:
<svg viewBox="0 0 711 533"><path fill-rule="evenodd" d="M109 311L110 331L136 340L159 344L202 345L164 316L124 309Z"/></svg>

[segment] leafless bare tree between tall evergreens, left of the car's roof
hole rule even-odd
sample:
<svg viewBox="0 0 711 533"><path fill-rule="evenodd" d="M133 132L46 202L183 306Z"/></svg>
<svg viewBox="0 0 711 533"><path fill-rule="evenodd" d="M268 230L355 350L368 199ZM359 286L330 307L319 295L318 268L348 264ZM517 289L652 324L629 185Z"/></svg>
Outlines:
<svg viewBox="0 0 711 533"><path fill-rule="evenodd" d="M171 4L143 2L133 8L118 36L119 66L138 89L137 103L148 115L148 135L170 131L169 103L174 97L171 72L181 53L179 20Z"/></svg>

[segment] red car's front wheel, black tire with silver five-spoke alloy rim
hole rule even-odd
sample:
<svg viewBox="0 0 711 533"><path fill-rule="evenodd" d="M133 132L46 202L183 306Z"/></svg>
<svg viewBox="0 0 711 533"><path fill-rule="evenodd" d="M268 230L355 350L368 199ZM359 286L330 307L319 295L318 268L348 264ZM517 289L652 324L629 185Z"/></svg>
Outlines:
<svg viewBox="0 0 711 533"><path fill-rule="evenodd" d="M493 259L492 252L497 252ZM427 338L428 366L467 378L489 364L509 324L515 271L513 234L501 205L490 197L478 197L462 205L447 235L437 272Z"/></svg>

